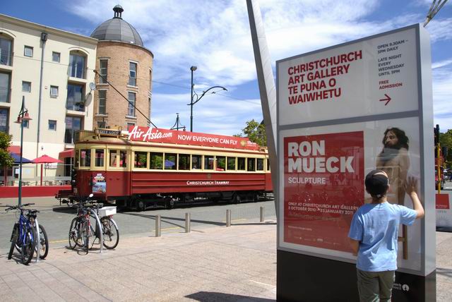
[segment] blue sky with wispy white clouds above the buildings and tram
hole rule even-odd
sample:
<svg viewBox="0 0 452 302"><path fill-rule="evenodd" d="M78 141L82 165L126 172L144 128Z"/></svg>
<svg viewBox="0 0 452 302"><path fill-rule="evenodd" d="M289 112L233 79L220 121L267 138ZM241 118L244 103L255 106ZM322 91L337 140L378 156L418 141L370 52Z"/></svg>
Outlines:
<svg viewBox="0 0 452 302"><path fill-rule="evenodd" d="M151 121L171 128L176 114L190 127L191 66L195 92L215 85L194 105L195 132L234 135L262 121L245 0L19 0L0 13L90 35L113 18L112 8L138 30L154 54ZM432 0L260 0L273 61L423 23ZM427 25L432 42L434 123L452 129L452 3Z"/></svg>

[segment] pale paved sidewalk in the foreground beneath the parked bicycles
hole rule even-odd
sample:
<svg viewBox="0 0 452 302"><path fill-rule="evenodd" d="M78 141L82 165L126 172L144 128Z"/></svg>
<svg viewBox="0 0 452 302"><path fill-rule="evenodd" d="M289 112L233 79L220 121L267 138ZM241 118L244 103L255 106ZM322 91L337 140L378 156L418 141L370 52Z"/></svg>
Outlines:
<svg viewBox="0 0 452 302"><path fill-rule="evenodd" d="M51 248L47 260L28 266L17 258L7 260L7 251L1 250L0 300L267 302L276 298L274 220L159 238L121 238L116 250L102 254L97 248L88 255ZM450 301L451 233L436 233L436 250L437 301Z"/></svg>

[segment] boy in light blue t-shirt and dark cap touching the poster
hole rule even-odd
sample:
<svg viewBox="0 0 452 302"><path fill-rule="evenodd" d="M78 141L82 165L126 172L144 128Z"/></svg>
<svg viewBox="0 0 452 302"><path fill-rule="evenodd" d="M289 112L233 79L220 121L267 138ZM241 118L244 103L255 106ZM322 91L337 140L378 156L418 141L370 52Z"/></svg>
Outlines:
<svg viewBox="0 0 452 302"><path fill-rule="evenodd" d="M411 225L415 219L424 217L424 208L417 197L417 181L413 177L405 185L413 210L387 202L386 172L371 171L365 184L372 202L359 207L348 234L353 253L357 255L359 300L390 301L397 270L399 224Z"/></svg>

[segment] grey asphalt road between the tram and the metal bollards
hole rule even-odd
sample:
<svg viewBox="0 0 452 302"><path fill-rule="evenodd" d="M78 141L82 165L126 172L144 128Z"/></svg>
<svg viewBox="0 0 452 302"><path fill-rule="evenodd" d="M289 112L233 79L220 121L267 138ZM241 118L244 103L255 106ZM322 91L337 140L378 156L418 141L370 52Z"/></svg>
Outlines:
<svg viewBox="0 0 452 302"><path fill-rule="evenodd" d="M28 203L25 201L23 203ZM4 204L11 204L2 202ZM58 202L55 200L55 205ZM225 226L226 210L231 210L232 224L258 221L260 207L265 208L265 216L275 219L275 205L273 200L258 203L217 203L177 207L172 210L152 209L143 212L124 211L114 215L119 227L120 238L131 236L155 236L155 216L160 215L162 222L162 236L167 232L183 232L185 230L185 213L191 215L191 231L202 231L204 227ZM74 210L66 206L47 207L40 210L38 219L49 237L53 247L66 246L71 220L75 217ZM14 222L17 221L16 212L0 210L0 250L7 250L11 243L9 238Z"/></svg>

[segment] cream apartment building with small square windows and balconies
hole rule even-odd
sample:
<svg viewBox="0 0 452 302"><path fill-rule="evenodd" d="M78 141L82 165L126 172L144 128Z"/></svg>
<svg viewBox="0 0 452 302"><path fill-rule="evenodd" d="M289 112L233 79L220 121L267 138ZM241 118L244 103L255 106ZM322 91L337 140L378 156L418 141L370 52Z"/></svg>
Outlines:
<svg viewBox="0 0 452 302"><path fill-rule="evenodd" d="M0 131L20 145L17 120L25 99L32 120L23 123L23 157L41 155L66 165L47 167L47 176L69 176L74 133L92 130L97 39L0 14ZM65 152L66 151L66 152ZM40 174L24 165L24 179Z"/></svg>

